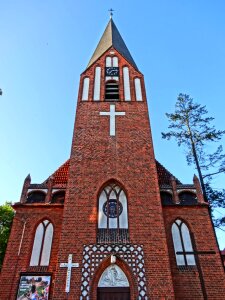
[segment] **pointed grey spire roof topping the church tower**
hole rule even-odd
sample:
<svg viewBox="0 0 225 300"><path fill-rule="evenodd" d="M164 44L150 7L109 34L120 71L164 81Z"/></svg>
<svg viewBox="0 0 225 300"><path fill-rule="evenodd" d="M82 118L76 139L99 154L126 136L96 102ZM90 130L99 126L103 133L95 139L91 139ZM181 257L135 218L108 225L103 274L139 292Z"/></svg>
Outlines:
<svg viewBox="0 0 225 300"><path fill-rule="evenodd" d="M102 54L106 50L111 47L115 48L129 63L131 63L138 70L124 40L122 39L112 19L110 19L108 25L106 26L106 29L88 63L87 68L90 67L100 56L102 56Z"/></svg>

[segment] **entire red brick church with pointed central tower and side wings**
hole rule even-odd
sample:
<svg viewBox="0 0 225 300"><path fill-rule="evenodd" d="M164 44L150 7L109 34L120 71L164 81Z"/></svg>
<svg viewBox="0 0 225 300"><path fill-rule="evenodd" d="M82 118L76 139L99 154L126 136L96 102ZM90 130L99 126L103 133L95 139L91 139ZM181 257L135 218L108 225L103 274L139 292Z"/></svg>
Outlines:
<svg viewBox="0 0 225 300"><path fill-rule="evenodd" d="M28 175L0 300L225 299L198 178L154 155L144 76L110 19L81 74L70 158Z"/></svg>

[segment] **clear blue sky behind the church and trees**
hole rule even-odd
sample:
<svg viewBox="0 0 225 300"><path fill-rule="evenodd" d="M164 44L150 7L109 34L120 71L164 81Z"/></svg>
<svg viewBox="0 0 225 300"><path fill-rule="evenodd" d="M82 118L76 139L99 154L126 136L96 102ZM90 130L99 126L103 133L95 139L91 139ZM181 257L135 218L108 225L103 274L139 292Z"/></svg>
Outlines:
<svg viewBox="0 0 225 300"><path fill-rule="evenodd" d="M156 158L192 183L184 150L161 132L180 92L225 128L224 0L0 0L0 7L0 203L19 200L28 173L40 183L69 158L79 76L111 7L145 76ZM214 185L224 182L218 176Z"/></svg>

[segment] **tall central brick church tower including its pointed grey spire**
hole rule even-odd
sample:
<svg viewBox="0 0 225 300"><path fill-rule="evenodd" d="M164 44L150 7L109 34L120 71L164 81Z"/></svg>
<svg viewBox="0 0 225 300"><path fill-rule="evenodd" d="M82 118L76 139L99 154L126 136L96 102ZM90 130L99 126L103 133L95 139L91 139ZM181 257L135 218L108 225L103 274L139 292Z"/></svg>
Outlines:
<svg viewBox="0 0 225 300"><path fill-rule="evenodd" d="M59 260L69 253L83 274L73 270L71 299L97 299L112 268L131 299L148 298L148 282L174 297L144 77L112 19L80 78Z"/></svg>

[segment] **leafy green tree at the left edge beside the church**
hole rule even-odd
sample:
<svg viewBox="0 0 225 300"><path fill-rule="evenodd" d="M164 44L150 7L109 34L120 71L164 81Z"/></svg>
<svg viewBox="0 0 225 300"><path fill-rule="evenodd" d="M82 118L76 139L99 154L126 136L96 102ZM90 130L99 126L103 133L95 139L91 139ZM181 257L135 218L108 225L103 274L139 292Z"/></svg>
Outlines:
<svg viewBox="0 0 225 300"><path fill-rule="evenodd" d="M14 217L14 210L10 203L0 206L0 269L2 267L10 229Z"/></svg>

